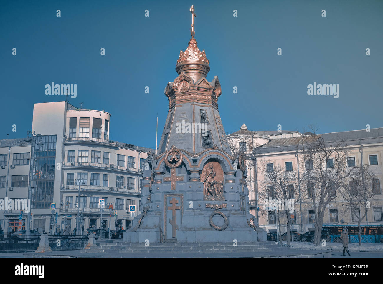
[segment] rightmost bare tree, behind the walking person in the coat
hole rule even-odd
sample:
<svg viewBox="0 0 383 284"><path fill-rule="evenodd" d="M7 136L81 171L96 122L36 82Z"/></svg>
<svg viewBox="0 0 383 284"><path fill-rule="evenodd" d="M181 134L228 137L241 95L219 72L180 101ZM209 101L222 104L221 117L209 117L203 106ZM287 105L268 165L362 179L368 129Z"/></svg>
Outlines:
<svg viewBox="0 0 383 284"><path fill-rule="evenodd" d="M374 191L373 182L376 176L368 168L368 165L355 168L350 174L349 183L344 184L340 189L340 195L348 202L342 207L343 212L351 210L351 218L358 219L358 243L362 245L361 235L362 227L360 223L366 217L368 209L370 209L369 199L377 193ZM361 211L362 209L363 211ZM363 214L363 215L362 215Z"/></svg>

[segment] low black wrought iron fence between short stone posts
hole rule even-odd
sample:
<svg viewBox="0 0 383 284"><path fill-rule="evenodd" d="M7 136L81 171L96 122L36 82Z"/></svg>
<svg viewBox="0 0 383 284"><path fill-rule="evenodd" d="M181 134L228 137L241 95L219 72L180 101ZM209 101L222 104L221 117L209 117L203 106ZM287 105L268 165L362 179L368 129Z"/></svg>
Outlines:
<svg viewBox="0 0 383 284"><path fill-rule="evenodd" d="M52 250L80 250L87 245L87 236L49 235ZM39 235L0 235L0 252L35 251L40 243Z"/></svg>

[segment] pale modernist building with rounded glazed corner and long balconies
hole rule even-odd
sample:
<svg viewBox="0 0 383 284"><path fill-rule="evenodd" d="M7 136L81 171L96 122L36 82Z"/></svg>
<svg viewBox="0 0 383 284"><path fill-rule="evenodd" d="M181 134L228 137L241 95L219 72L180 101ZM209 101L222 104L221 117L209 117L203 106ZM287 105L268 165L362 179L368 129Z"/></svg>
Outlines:
<svg viewBox="0 0 383 284"><path fill-rule="evenodd" d="M105 111L77 109L64 101L34 104L32 132L42 137L34 149L31 229L49 231L57 213L57 225L72 231L77 206L84 229L126 229L134 218L128 206L135 205L134 215L140 213L142 168L152 149L110 140L110 119ZM0 140L0 199L28 197L31 142L25 140ZM105 201L103 211L100 199ZM109 203L117 211L117 222L114 212L109 218ZM20 210L6 209L0 210L2 227L5 232L16 230ZM26 217L24 212L23 229Z"/></svg>

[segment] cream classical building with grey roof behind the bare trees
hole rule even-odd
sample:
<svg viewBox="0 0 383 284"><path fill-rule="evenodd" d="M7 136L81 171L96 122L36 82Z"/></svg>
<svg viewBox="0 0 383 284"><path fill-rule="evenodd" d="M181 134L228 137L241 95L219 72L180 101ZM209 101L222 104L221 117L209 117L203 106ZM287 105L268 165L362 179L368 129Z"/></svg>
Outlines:
<svg viewBox="0 0 383 284"><path fill-rule="evenodd" d="M260 227L268 233L277 230L276 211L268 211L264 207L265 196L267 196L267 181L265 181L265 171L273 171L276 168L288 171L291 176L298 180L298 161L300 164L300 175L305 171L303 153L300 147L302 134L296 131L249 131L242 125L240 131L228 135L229 144L232 149L244 150L247 153L250 213L259 219ZM347 145L347 157L345 163L347 167L368 165L374 178L370 186L373 188L374 196L369 199L370 209L368 210L367 220L362 220L362 225L380 225L382 220L383 195L381 192L382 154L383 154L383 128L345 131L320 134L326 142L343 140ZM262 145L262 147L257 148ZM298 146L297 146L298 145ZM297 150L298 147L298 150ZM257 148L254 152L253 149ZM251 154L253 152L253 155ZM255 155L254 155L255 154ZM298 156L298 157L297 157ZM254 160L255 158L255 160ZM315 166L315 165L314 165ZM347 168L346 168L347 170ZM309 196L311 191L303 181L299 184L291 178L291 189L298 202L295 202L294 217L291 219L291 227L295 232L301 230L307 232L314 229L314 206L312 198ZM298 186L299 185L299 186ZM297 198L297 194L301 198ZM326 208L323 224L325 225L356 225L357 220L352 216L351 209L347 207L347 202L336 194ZM362 212L363 210L359 211ZM280 230L286 232L286 216L281 214Z"/></svg>

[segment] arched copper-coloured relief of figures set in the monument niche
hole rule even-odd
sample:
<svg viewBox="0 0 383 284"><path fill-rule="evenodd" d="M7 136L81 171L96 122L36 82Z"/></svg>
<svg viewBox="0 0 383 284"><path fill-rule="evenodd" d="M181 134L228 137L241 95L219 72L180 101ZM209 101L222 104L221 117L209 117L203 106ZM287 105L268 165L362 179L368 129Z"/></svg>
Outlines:
<svg viewBox="0 0 383 284"><path fill-rule="evenodd" d="M203 200L225 200L223 196L223 170L219 163L207 163L203 167L200 180L203 182Z"/></svg>

